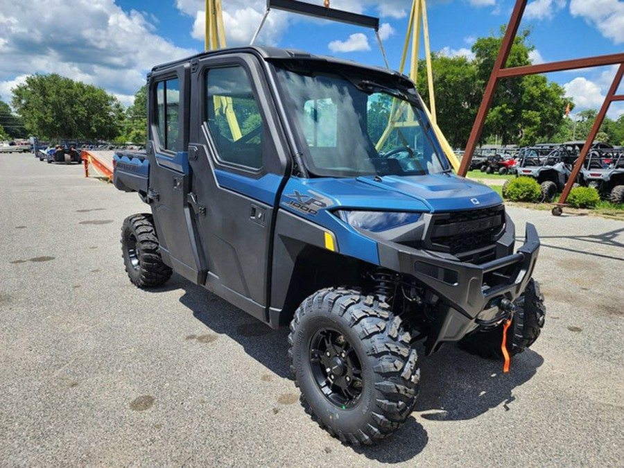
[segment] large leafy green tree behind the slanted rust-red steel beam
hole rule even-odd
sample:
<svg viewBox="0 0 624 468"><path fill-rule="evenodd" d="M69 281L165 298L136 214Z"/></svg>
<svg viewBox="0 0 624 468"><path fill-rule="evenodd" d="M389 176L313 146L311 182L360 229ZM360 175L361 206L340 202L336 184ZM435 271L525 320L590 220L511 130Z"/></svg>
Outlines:
<svg viewBox="0 0 624 468"><path fill-rule="evenodd" d="M528 44L529 35L529 31L522 31L515 38L506 67L530 64L529 53L533 48ZM502 40L502 34L480 37L472 47L475 60L432 55L437 124L451 146L462 148L468 141ZM426 66L421 60L417 85L428 103L426 83ZM545 76L499 80L480 141L521 145L552 141L555 135L566 130L564 113L567 103L571 100L564 98L564 89L549 82Z"/></svg>

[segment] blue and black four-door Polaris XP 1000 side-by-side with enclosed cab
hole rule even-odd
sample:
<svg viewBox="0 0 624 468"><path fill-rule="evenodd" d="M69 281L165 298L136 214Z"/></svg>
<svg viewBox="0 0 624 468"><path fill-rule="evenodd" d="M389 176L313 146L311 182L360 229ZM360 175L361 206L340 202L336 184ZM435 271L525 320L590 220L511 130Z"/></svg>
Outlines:
<svg viewBox="0 0 624 468"><path fill-rule="evenodd" d="M302 406L344 442L406 422L417 341L504 356L544 324L535 227L516 250L501 198L453 175L399 73L263 47L164 64L146 154L114 166L151 211L123 223L132 283L173 270L290 324Z"/></svg>

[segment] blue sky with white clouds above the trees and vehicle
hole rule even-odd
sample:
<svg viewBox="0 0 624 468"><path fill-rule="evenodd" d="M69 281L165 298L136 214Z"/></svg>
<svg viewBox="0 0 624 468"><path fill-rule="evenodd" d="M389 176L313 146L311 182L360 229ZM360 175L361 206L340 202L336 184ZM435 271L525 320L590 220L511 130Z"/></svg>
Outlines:
<svg viewBox="0 0 624 468"><path fill-rule="evenodd" d="M322 0L306 0L322 5ZM477 37L497 34L514 0L428 0L432 51L470 56ZM203 49L204 0L0 0L0 98L32 73L60 73L115 94L125 105L155 64ZM223 0L228 45L247 44L266 0ZM392 68L399 66L410 0L331 0L332 8L380 17ZM532 59L581 58L624 51L624 1L529 0ZM383 64L374 33L274 10L258 44L293 47ZM424 51L421 51L423 56ZM616 67L551 73L576 111L600 107ZM619 91L624 93L624 84ZM624 113L612 105L609 116Z"/></svg>

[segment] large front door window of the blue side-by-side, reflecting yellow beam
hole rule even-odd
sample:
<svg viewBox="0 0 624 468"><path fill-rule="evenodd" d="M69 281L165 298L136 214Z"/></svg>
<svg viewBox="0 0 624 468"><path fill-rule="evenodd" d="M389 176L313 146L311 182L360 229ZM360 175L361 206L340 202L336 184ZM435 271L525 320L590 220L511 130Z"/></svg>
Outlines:
<svg viewBox="0 0 624 468"><path fill-rule="evenodd" d="M207 71L206 115L218 157L250 168L262 167L263 121L243 67Z"/></svg>

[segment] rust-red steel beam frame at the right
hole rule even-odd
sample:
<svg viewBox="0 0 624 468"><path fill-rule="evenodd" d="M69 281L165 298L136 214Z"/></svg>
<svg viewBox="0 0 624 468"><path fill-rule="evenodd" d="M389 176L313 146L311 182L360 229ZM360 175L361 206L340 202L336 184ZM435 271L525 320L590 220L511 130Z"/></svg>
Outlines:
<svg viewBox="0 0 624 468"><path fill-rule="evenodd" d="M564 203L566 198L568 198L568 194L570 193L570 189L572 184L574 183L575 178L577 177L580 168L584 162L585 157L589 151L589 146L593 142L593 139L596 137L596 133L598 133L598 128L600 128L600 124L603 123L603 119L605 119L605 114L609 109L609 105L613 101L624 101L624 95L616 95L616 91L618 86L622 80L622 74L624 71L624 53L614 53L611 55L598 55L596 57L589 58L579 58L573 60L563 60L561 62L551 62L551 63L542 63L539 65L528 65L526 67L512 67L512 68L504 68L505 63L509 57L509 53L511 51L512 44L514 42L514 37L518 32L518 28L520 26L520 21L522 19L522 15L524 14L524 9L526 7L526 0L517 0L516 5L514 6L514 10L512 11L511 18L509 20L509 25L507 27L507 31L505 31L505 35L503 36L503 43L501 44L501 50L499 51L498 57L496 57L496 62L494 62L494 68L492 69L492 74L489 76L489 80L487 81L487 86L485 87L485 94L483 94L483 99L481 100L481 104L479 106L479 110L476 115L476 119L474 121L474 125L472 126L472 131L470 132L470 137L468 139L468 143L466 144L466 148L464 150L464 155L462 157L462 163L460 164L460 168L458 171L459 175L465 176L468 168L470 167L470 161L472 159L472 155L476 148L477 141L481 136L481 132L483 130L483 124L485 123L485 117L487 116L487 112L489 111L490 105L492 105L492 99L494 98L494 91L496 90L496 85L498 84L501 78L511 78L514 76L525 76L532 75L535 73L548 73L551 71L563 71L563 70L573 70L587 67L599 67L600 65L612 65L612 64L620 64L618 72L613 80L611 88L607 93L605 98L605 102L603 106L600 107L600 112L598 112L598 116L596 116L596 122L594 122L591 131L587 137L587 141L581 150L581 153L578 157L576 164L574 165L572 174L564 191L561 195L559 203Z"/></svg>

